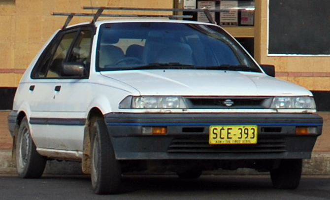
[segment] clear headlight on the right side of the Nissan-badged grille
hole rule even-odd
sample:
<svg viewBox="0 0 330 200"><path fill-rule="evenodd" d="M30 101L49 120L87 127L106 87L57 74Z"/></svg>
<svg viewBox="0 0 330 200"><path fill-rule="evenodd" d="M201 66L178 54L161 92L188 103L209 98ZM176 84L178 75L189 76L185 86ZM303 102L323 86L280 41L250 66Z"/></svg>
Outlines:
<svg viewBox="0 0 330 200"><path fill-rule="evenodd" d="M312 97L275 97L271 108L316 109Z"/></svg>

